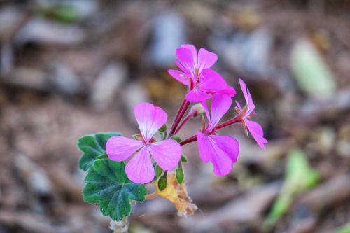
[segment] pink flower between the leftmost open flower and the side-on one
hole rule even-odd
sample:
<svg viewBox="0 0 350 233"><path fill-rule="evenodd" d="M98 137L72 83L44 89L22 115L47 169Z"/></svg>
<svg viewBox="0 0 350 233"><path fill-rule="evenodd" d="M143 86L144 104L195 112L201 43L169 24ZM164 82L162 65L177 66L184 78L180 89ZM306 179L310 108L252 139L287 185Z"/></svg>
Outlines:
<svg viewBox="0 0 350 233"><path fill-rule="evenodd" d="M197 132L200 157L204 163L211 162L214 174L225 176L232 170L239 153L238 141L232 136L218 136L215 127L232 104L232 99L226 94L214 94L211 99L211 113L207 104L202 103L209 120L209 125Z"/></svg>

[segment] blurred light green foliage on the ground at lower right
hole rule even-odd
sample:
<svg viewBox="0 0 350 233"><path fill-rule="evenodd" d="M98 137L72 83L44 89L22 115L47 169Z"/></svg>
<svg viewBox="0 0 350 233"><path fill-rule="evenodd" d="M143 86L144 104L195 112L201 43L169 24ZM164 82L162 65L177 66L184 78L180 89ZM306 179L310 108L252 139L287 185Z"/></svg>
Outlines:
<svg viewBox="0 0 350 233"><path fill-rule="evenodd" d="M274 202L263 229L269 231L283 216L293 199L318 183L318 173L307 162L302 150L292 150L287 157L286 178L282 190Z"/></svg>

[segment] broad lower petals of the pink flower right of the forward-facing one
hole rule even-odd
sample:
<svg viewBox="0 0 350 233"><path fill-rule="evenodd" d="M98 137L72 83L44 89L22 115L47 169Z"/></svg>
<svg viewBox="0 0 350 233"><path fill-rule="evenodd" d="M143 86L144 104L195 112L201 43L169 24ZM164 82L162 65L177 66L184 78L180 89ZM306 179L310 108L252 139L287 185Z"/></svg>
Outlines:
<svg viewBox="0 0 350 233"><path fill-rule="evenodd" d="M197 132L198 148L202 161L211 162L214 166L214 174L225 176L232 170L237 161L239 146L236 139L230 136L206 136Z"/></svg>

